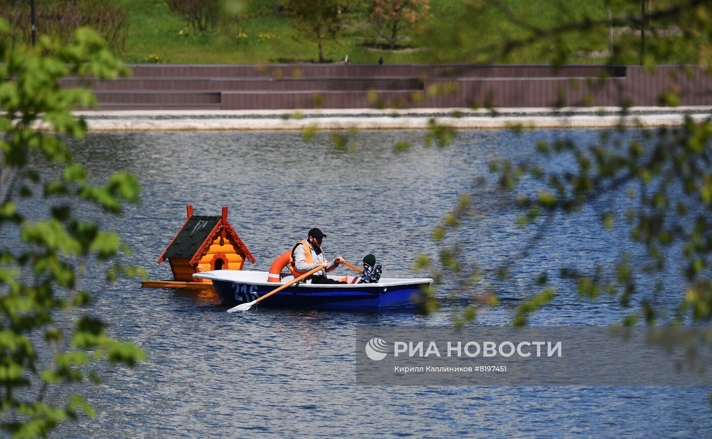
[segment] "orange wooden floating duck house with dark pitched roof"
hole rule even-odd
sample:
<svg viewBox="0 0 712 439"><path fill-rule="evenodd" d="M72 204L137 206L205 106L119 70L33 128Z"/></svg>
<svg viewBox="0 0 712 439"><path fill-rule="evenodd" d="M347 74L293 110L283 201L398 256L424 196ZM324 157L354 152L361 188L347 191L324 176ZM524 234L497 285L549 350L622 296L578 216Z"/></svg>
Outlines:
<svg viewBox="0 0 712 439"><path fill-rule="evenodd" d="M174 280L206 282L192 275L207 270L242 270L245 260L255 263L250 250L227 222L226 207L222 216L193 215L193 206L187 206L187 211L187 221L158 258L159 265L166 259L171 264Z"/></svg>

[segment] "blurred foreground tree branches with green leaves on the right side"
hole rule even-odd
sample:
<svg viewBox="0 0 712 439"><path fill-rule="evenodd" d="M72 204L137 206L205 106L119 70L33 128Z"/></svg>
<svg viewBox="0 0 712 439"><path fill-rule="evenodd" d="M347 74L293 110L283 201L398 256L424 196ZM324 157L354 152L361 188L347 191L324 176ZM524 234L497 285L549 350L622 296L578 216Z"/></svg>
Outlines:
<svg viewBox="0 0 712 439"><path fill-rule="evenodd" d="M600 6L600 5L599 5ZM645 53L639 38L618 38L614 41L613 52L609 53L611 63L624 63L637 55L642 55L646 68L655 68L658 60L684 54L691 63L710 65L712 53L712 8L708 2L699 0L677 0L657 3L646 22L639 16L639 4L633 5L613 1L613 26L648 26L653 38L649 38ZM533 60L553 58L559 62L575 59L571 41L582 38L596 40L597 32L605 34L607 21L599 12L590 8L577 9L575 6L562 9L558 20L540 16L539 5L515 4L511 1L482 0L469 1L461 6L460 17L467 23L482 23L469 26L483 35L483 42L476 45L478 56L483 60L503 60L507 57L522 59L525 53L535 53ZM434 8L434 12L437 13ZM597 15L598 14L598 15ZM496 17L496 18L493 18ZM448 23L449 27L451 23ZM483 29L497 27L500 36L492 36ZM449 38L460 43L464 50L466 38L458 26L456 30L444 32L435 38ZM680 28L682 36L665 36L666 29ZM639 31L638 31L639 35ZM485 46L483 46L483 44ZM688 74L681 67L678 77ZM661 105L678 105L679 86L672 86L660 97ZM626 115L625 109L622 115ZM432 127L436 127L432 124ZM515 127L514 132L519 132ZM626 128L619 128L624 132ZM560 277L571 280L582 300L597 300L602 295L615 297L622 307L636 306L634 313L624 319L624 324L655 324L662 316L670 322L708 323L712 319L712 270L709 263L712 253L712 121L693 120L687 117L682 127L674 129L645 130L632 129L632 139L624 144L604 132L595 144L582 145L570 139L555 139L551 142L537 142L533 145L540 159L563 160L574 165L567 171L544 171L530 160L498 160L491 163L491 171L496 174L501 191L511 195L515 206L520 208L518 225L537 227L533 238L523 251L523 255L539 245L542 240L555 239L557 233L551 227L551 218L568 215L583 209L595 209L605 229L613 229L627 221L632 228L630 245L646 250L647 260L632 263L629 253L614 255L610 262L597 266L588 273L563 266ZM555 157L557 156L557 157ZM522 182L527 182L524 188ZM538 191L531 191L534 184ZM632 189L634 188L634 189ZM623 218L602 200L618 194L627 195L627 211ZM606 205L604 207L604 205ZM460 278L476 274L473 290L481 292L472 295L473 306L489 306L488 300L479 296L496 297L491 288L493 282L509 279L511 265L516 257L499 266L488 267L481 275L476 268L464 269L468 261L461 258L458 245L448 243L444 238L451 228L461 227L471 212L457 206L443 223L434 229L432 238L441 245L441 267L434 268L433 277ZM624 221L621 221L624 220ZM471 221L471 220L468 220ZM679 258L666 258L670 249L681 248ZM673 266L671 260L675 261ZM647 276L659 276L664 270L681 270L686 275L684 291L680 293L679 306L674 310L660 309L653 292L640 291L638 282ZM466 273L466 274L464 274ZM548 276L532 280L533 285L545 287ZM469 287L462 291L470 290ZM484 291L484 292L482 292ZM515 312L513 324L525 324L528 316L545 306L555 297L551 287L522 302ZM495 302L495 301L491 301ZM463 317L454 319L456 324L465 322Z"/></svg>

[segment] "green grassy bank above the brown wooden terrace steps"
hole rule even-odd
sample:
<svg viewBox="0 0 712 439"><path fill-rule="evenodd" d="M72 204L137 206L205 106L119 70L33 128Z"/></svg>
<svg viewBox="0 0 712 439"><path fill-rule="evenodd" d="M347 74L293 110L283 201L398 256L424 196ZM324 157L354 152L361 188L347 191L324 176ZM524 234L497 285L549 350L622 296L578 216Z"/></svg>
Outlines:
<svg viewBox="0 0 712 439"><path fill-rule="evenodd" d="M614 14L622 14L624 8L637 8L637 2L614 4ZM656 1L663 7L666 1ZM197 32L187 26L184 19L169 9L166 3L145 0L117 0L117 6L128 14L129 34L124 60L128 63L291 63L314 62L318 57L313 41L294 30L286 18L265 13L243 18L215 31ZM570 0L563 11L560 4L549 1L506 0L518 19L528 21L539 28L556 26L562 20L580 19L588 16L604 20L606 11L603 1L589 2ZM346 55L353 63L375 63L383 57L387 63L552 63L564 48L570 53L567 62L602 63L606 58L595 57L596 52L607 50L605 28L592 33L570 33L560 41L543 41L515 51L508 57L500 56L486 48L496 46L505 38L525 36L526 31L506 19L502 11L493 8L474 9L471 4L459 0L432 0L429 21L420 26L407 28L400 35L397 51L375 47L379 31L366 11L366 4L355 14L355 20L336 41L327 41L325 58L341 61ZM389 29L383 29L389 35ZM382 36L380 45L387 43ZM618 35L617 43L632 43L635 46L639 35L634 32ZM648 36L649 45L654 42ZM665 36L659 38L678 38ZM672 54L654 54L658 63L694 63L693 49L674 51ZM638 53L626 53L622 61L637 63Z"/></svg>

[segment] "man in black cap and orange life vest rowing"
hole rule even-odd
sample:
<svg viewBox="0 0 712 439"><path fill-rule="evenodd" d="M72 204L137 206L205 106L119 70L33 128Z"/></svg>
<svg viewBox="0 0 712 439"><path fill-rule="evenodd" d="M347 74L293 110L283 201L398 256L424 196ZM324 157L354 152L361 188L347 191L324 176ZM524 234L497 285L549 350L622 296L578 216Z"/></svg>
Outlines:
<svg viewBox="0 0 712 439"><path fill-rule="evenodd" d="M346 283L326 277L326 273L335 270L344 261L344 258L339 256L332 262L326 262L324 252L321 250L321 243L325 236L318 228L311 229L307 240L299 241L292 248L288 268L294 277L298 277L321 265L324 269L318 271L318 274L310 276L313 284Z"/></svg>

